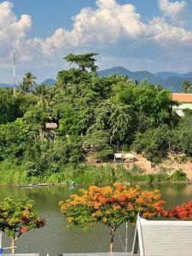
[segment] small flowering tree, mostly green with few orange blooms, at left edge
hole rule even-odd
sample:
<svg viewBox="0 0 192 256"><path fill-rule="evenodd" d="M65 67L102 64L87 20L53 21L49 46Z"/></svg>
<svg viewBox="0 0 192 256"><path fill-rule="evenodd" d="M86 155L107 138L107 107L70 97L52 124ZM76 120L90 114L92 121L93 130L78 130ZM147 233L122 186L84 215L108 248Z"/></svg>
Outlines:
<svg viewBox="0 0 192 256"><path fill-rule="evenodd" d="M0 201L0 230L11 237L12 254L15 253L15 241L30 230L44 227L45 220L38 218L34 211L34 201L29 199L13 199Z"/></svg>

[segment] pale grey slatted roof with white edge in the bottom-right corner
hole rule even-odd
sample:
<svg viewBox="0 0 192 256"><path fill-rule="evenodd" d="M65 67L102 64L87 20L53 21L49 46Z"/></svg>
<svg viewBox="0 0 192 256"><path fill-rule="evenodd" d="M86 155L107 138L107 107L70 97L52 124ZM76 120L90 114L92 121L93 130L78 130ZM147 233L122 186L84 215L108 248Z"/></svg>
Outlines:
<svg viewBox="0 0 192 256"><path fill-rule="evenodd" d="M138 216L132 253L141 256L189 256L192 221L154 221Z"/></svg>

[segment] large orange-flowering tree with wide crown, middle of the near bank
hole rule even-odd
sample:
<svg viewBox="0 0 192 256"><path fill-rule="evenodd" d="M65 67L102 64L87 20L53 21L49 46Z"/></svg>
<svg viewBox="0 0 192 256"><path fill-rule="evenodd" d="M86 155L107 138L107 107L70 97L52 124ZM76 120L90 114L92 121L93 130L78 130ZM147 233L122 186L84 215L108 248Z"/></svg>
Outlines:
<svg viewBox="0 0 192 256"><path fill-rule="evenodd" d="M80 189L80 195L71 195L61 201L61 212L67 217L68 227L89 229L95 223L108 226L110 234L110 252L113 252L115 231L125 221L135 224L137 213L142 218L155 218L163 213L164 201L160 201L158 190L141 191L139 187L126 189L119 183L114 187L98 188L90 186Z"/></svg>

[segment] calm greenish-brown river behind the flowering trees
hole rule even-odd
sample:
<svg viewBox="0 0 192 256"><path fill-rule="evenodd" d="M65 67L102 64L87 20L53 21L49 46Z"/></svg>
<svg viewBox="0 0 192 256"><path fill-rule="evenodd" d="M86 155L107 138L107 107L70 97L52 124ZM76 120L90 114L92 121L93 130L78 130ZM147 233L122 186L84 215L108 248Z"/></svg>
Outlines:
<svg viewBox="0 0 192 256"><path fill-rule="evenodd" d="M97 224L92 230L67 230L67 221L62 216L58 201L66 200L76 193L80 187L74 189L65 186L20 189L16 187L0 187L0 199L7 196L15 198L28 197L37 203L37 210L47 225L42 230L28 232L20 237L17 246L18 253L41 253L44 256L55 256L59 253L99 253L108 252L108 228ZM144 185L144 190L160 189L162 199L166 201L166 208L175 207L192 199L192 185L161 184ZM134 229L128 230L128 248L131 251ZM125 241L125 225L120 228L120 236ZM9 246L9 239L3 235L3 247ZM123 247L119 236L115 238L115 251L122 252Z"/></svg>

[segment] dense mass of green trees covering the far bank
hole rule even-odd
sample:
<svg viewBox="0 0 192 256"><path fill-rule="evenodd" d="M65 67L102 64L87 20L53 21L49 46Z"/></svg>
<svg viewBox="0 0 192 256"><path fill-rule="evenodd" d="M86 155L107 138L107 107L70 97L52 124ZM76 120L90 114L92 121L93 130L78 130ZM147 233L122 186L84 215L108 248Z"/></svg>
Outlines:
<svg viewBox="0 0 192 256"><path fill-rule="evenodd" d="M168 150L192 155L192 113L178 117L171 92L147 80L97 76L95 55L65 57L73 67L54 86L35 86L27 73L15 95L0 90L0 172L11 163L29 180L47 180L67 166L78 170L87 152L108 160L125 147L152 161Z"/></svg>

